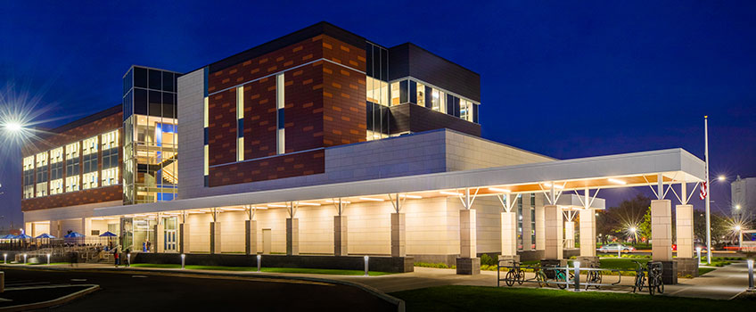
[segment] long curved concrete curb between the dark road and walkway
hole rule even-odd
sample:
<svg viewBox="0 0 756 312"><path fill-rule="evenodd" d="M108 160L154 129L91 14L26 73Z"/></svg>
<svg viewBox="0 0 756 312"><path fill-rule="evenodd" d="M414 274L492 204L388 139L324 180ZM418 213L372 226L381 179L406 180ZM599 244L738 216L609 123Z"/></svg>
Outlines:
<svg viewBox="0 0 756 312"><path fill-rule="evenodd" d="M332 280L327 278L320 278L320 277L305 277L305 276L285 276L285 275L266 275L264 273L252 273L252 274L234 274L234 273L221 273L221 272L202 272L200 270L178 270L178 269L160 269L160 268L148 268L148 269L140 269L140 268L132 268L132 267L126 267L126 268L115 268L115 267L91 267L91 268L83 268L83 267L16 267L16 266L6 266L6 265L0 265L0 267L8 267L8 268L18 268L22 270L42 270L42 271L103 271L108 273L121 273L121 274L130 274L130 273L139 273L139 274L149 274L149 273L159 273L159 274L171 274L171 275L209 275L209 276L225 276L225 277L255 277L255 278L267 278L267 279L283 279L283 280L292 280L292 281L308 281L308 282L319 282L319 283L334 283L334 284L341 284L345 286L350 287L356 287L357 289L360 289L362 291L366 291L367 293L370 293L374 295L375 297L378 297L381 300L387 301L390 304L397 306L397 311L404 312L405 311L405 302L404 300L400 300L399 298L390 296L389 294L379 291L371 286L368 286L363 283L354 283L349 281L340 281L340 280ZM0 311L4 311L3 309L0 309Z"/></svg>

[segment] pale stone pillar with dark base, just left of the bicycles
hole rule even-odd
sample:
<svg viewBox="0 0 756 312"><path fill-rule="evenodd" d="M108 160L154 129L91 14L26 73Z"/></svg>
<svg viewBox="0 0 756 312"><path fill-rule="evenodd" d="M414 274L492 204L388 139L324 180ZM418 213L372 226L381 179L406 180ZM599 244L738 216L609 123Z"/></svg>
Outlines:
<svg viewBox="0 0 756 312"><path fill-rule="evenodd" d="M456 274L481 274L481 259L478 258L477 226L475 209L459 210L459 258L456 259Z"/></svg>

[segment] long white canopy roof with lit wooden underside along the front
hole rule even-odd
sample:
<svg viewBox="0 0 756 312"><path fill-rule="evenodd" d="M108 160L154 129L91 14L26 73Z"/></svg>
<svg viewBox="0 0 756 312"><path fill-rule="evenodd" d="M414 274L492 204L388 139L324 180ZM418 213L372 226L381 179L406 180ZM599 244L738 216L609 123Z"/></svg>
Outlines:
<svg viewBox="0 0 756 312"><path fill-rule="evenodd" d="M94 216L209 208L234 210L249 205L275 209L285 208L290 201L319 206L332 204L339 198L348 202L390 201L397 193L406 199L457 197L463 196L467 189L477 196L546 193L552 189L566 195L571 191L657 185L659 177L664 185L698 183L703 181L704 170L703 160L685 150L670 149L107 207L94 209ZM560 200L570 201L565 206L578 206L572 196L564 198ZM596 202L599 204L603 203Z"/></svg>

